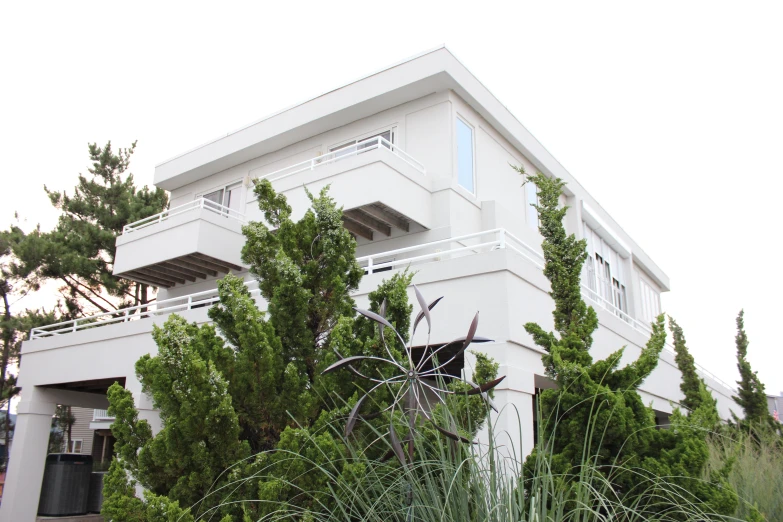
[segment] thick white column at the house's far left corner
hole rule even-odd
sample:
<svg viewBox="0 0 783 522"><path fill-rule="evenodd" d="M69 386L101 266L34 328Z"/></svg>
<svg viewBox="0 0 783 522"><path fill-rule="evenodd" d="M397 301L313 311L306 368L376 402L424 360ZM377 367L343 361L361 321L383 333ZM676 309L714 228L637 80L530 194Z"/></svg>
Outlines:
<svg viewBox="0 0 783 522"><path fill-rule="evenodd" d="M22 397L0 505L0 522L35 522L55 403L31 390ZM25 400L27 399L27 400Z"/></svg>

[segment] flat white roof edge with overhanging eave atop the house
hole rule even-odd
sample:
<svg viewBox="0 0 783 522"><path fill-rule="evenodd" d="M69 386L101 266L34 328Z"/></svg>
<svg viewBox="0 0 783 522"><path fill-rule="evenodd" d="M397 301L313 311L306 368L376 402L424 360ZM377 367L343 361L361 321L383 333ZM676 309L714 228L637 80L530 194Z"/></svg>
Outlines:
<svg viewBox="0 0 783 522"><path fill-rule="evenodd" d="M368 74L164 161L155 167L154 183L173 190L311 136L445 90L457 93L538 170L563 179L569 191L584 197L627 238L635 263L641 264L664 290L669 289L668 276L445 46Z"/></svg>

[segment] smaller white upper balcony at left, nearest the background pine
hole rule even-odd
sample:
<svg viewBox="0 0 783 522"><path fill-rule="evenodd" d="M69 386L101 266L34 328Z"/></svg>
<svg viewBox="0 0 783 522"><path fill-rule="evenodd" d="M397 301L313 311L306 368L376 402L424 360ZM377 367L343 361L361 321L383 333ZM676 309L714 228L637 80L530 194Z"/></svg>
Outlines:
<svg viewBox="0 0 783 522"><path fill-rule="evenodd" d="M170 288L243 270L243 214L204 198L126 225L114 274Z"/></svg>

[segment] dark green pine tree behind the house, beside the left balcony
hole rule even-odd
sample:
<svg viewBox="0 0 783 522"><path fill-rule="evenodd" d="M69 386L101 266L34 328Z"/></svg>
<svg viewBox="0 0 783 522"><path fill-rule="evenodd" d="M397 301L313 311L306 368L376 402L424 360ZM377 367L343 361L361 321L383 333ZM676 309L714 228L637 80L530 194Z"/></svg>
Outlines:
<svg viewBox="0 0 783 522"><path fill-rule="evenodd" d="M128 223L163 211L168 196L162 189L138 189L127 173L136 148L115 152L111 142L89 145L89 176L79 175L73 194L44 187L60 211L51 232L37 228L14 246L16 266L28 288L44 281L60 283L71 316L89 311L111 312L150 301L147 285L112 274L115 241Z"/></svg>

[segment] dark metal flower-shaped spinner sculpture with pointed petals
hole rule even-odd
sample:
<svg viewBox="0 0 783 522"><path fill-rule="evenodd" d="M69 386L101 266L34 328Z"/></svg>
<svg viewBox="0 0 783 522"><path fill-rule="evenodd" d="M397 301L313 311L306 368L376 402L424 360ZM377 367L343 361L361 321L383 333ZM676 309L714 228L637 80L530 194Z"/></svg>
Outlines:
<svg viewBox="0 0 783 522"><path fill-rule="evenodd" d="M435 299L431 303L427 304L427 302L424 300L424 297L419 292L419 289L416 288L415 285L413 289L416 293L416 299L419 302L421 311L418 313L416 320L413 323L413 334L411 335L411 340L409 343L405 343L400 333L385 318L386 301L384 301L381 304L380 314L376 314L369 310L361 310L359 308L354 308L354 310L356 310L358 313L360 313L361 315L367 317L372 321L375 321L378 324L381 343L383 344L383 347L386 351L386 355L388 356L388 358L363 356L363 355L343 358L342 356L340 356L340 354L337 354L340 357L340 360L332 364L331 366L329 366L323 371L323 373L326 374L341 368L345 368L351 371L353 374L357 375L358 377L361 377L373 383L373 386L356 402L353 409L349 413L348 421L345 426L346 436L350 435L351 432L353 431L353 428L356 425L356 421L359 419L359 411L365 399L367 399L375 390L381 387L384 386L394 387L399 385L399 388L396 390L396 392L393 393L394 397L391 404L388 407L381 410L380 412L376 412L372 416L374 417L380 413L391 411L392 421L391 421L391 425L389 426L389 438L394 454L397 456L397 458L400 460L400 462L403 465L407 465L409 462L413 460L413 434L414 434L413 432L416 426L416 418L418 417L419 414L421 414L428 422L430 422L435 427L436 430L438 430L446 437L456 441L470 442L470 440L466 439L465 437L462 437L457 433L457 429L453 421L452 421L452 425L450 426L450 429L446 429L440 426L436 422L435 418L432 416L432 404L430 404L430 396L434 396L437 399L437 401L445 405L446 400L444 396L446 395L453 395L457 393L464 393L466 395L481 395L481 397L490 406L492 406L492 402L489 396L487 395L487 392L492 388L494 388L495 386L497 386L503 379L505 379L505 376L503 376L495 380L492 380L490 382L484 383L482 385L477 385L462 377L446 375L444 373L445 368L454 360L456 360L457 357L463 354L471 343L485 343L485 342L490 342L491 340L486 339L484 337L477 337L475 335L476 329L478 328L478 313L476 313L476 316L473 318L473 321L471 322L470 327L468 328L467 335L465 335L464 337L459 337L457 339L454 339L453 341L441 345L438 348L432 349L430 347L430 334L432 332L432 318L430 317L430 311L443 298L439 297L438 299ZM418 362L414 362L413 338L416 335L416 329L418 328L419 323L421 323L422 319L425 319L427 322L427 342L424 346L424 351L422 353L421 359L419 359ZM384 336L384 330L386 328L390 329L393 332L393 334L397 337L400 344L405 347L405 355L407 360L405 360L404 362L398 361L392 354L392 351L389 348L389 345L387 344L386 338ZM443 352L445 354L447 352L444 352L444 350L446 350L447 348L453 349L455 347L457 348L456 351L445 362L441 363L438 360L437 356L439 353ZM397 370L397 372L393 374L391 377L381 378L381 379L371 377L369 375L364 375L356 369L355 364L365 360L373 360L373 361L378 361L381 363L391 365L393 368ZM430 365L429 368L427 367L428 364ZM468 391L457 392L443 387L442 383L445 382L445 380L454 380L454 379L461 380L466 384L468 384L468 386L470 387ZM400 442L400 439L394 428L394 411L397 409L404 411L403 407L401 406L401 404L403 403L407 404L407 413L408 413L408 436L406 438L408 442L407 456L405 454L405 451L403 450L402 443Z"/></svg>

